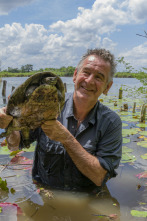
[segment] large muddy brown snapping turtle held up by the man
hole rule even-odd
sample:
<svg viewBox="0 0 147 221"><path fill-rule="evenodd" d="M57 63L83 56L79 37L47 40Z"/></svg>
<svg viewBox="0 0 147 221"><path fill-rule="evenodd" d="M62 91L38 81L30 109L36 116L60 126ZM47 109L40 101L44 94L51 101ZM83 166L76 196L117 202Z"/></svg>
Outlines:
<svg viewBox="0 0 147 221"><path fill-rule="evenodd" d="M21 131L25 147L29 148L29 131L47 120L56 119L64 106L65 91L62 80L51 72L40 72L29 77L16 88L8 101L8 115L13 120L0 134L8 136L12 131Z"/></svg>

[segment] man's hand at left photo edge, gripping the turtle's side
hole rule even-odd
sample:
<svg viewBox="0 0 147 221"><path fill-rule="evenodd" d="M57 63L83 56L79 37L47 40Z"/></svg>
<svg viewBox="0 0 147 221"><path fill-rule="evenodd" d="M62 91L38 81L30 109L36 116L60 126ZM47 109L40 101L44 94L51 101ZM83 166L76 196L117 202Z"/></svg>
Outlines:
<svg viewBox="0 0 147 221"><path fill-rule="evenodd" d="M12 119L12 116L6 114L6 107L2 107L0 109L0 128L6 128Z"/></svg>

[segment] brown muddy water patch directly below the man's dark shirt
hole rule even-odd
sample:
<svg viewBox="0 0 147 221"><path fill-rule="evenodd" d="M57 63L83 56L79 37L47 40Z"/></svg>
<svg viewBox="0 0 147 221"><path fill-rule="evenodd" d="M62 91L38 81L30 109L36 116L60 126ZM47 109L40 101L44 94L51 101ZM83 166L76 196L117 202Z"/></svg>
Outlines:
<svg viewBox="0 0 147 221"><path fill-rule="evenodd" d="M43 206L33 203L31 199L21 204L27 218L35 221L96 221L109 220L112 214L116 214L116 220L119 220L119 203L106 188L98 196L65 191L52 191L52 195L53 197L49 198L46 193L40 194Z"/></svg>

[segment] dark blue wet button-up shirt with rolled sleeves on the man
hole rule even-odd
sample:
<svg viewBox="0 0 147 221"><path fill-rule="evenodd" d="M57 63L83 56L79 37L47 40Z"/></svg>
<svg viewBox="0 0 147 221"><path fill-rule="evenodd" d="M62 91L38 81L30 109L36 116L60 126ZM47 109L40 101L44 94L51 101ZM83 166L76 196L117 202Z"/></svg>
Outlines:
<svg viewBox="0 0 147 221"><path fill-rule="evenodd" d="M108 171L106 180L117 175L122 152L120 117L99 101L77 127L73 113L73 94L66 94L64 108L58 120L70 131L82 147L96 156ZM60 142L50 140L41 128L30 132L30 142L37 141L32 169L33 178L60 189L94 189L96 185L84 176ZM21 139L20 148L23 148Z"/></svg>

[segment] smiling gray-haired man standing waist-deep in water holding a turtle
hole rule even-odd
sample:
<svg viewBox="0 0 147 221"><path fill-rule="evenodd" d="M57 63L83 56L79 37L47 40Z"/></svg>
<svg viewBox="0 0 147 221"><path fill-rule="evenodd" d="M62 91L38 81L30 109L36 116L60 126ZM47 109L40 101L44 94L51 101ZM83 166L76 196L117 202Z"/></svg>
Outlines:
<svg viewBox="0 0 147 221"><path fill-rule="evenodd" d="M34 179L53 188L99 191L116 176L122 124L98 101L111 88L114 71L114 57L105 49L88 50L83 56L73 75L74 93L67 94L61 116L30 133L30 142L37 140ZM0 117L4 128L11 118L4 112ZM18 131L7 142L11 150L23 148Z"/></svg>

